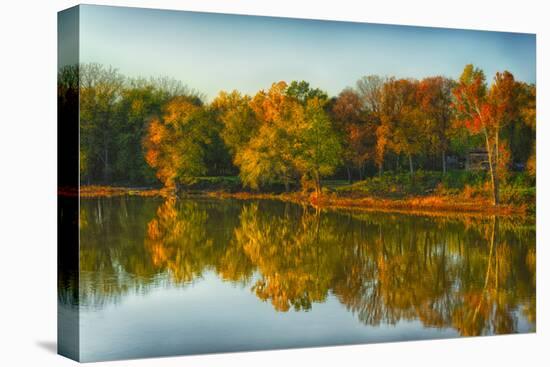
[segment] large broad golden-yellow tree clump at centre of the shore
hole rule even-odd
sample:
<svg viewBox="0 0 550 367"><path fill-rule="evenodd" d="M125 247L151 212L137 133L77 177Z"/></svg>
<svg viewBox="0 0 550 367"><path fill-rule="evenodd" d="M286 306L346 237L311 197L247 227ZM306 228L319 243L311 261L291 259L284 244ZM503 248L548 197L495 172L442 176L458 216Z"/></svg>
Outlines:
<svg viewBox="0 0 550 367"><path fill-rule="evenodd" d="M304 81L273 83L250 100L236 93L219 96L215 108L222 110L222 135L235 152L244 185L257 189L282 181L288 190L301 178L320 192L321 177L334 172L340 154L327 100L326 93ZM237 129L243 128L241 135Z"/></svg>

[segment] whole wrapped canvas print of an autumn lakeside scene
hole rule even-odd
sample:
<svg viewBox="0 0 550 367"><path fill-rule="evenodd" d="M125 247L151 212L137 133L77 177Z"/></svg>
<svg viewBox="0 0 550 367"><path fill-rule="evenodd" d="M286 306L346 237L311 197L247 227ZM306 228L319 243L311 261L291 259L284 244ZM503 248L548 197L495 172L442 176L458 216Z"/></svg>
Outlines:
<svg viewBox="0 0 550 367"><path fill-rule="evenodd" d="M536 37L59 13L58 348L536 331Z"/></svg>

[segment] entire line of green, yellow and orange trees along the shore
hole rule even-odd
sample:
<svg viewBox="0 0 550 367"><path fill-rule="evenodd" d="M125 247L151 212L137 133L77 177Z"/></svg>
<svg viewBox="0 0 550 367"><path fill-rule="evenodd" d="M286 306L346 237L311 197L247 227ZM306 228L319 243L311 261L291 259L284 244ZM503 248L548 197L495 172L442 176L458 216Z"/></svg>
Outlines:
<svg viewBox="0 0 550 367"><path fill-rule="evenodd" d="M239 175L321 191L323 178L448 170L448 157L487 152L495 204L511 169L535 173L536 87L507 71L490 83L466 65L457 79L369 75L329 97L306 81L255 95L205 96L170 78L128 78L99 64L66 67L59 98L79 88L81 182L170 187ZM62 104L61 104L62 106Z"/></svg>

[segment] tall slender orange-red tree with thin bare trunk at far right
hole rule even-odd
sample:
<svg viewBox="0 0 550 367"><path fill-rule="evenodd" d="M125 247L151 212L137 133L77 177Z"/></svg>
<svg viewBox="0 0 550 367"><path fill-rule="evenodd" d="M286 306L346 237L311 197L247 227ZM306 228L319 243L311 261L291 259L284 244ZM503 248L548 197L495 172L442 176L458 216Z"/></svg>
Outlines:
<svg viewBox="0 0 550 367"><path fill-rule="evenodd" d="M505 146L500 141L502 129L517 116L517 84L514 76L497 72L490 89L485 74L473 65L466 65L458 85L453 89L458 120L472 134L481 134L485 140L494 205L499 204L499 178Z"/></svg>

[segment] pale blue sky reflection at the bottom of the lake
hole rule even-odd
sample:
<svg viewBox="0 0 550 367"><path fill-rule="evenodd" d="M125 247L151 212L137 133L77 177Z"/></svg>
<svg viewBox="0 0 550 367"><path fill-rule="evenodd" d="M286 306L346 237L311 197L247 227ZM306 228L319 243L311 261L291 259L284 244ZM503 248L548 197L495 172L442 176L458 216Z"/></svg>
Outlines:
<svg viewBox="0 0 550 367"><path fill-rule="evenodd" d="M82 361L458 336L420 321L365 325L330 295L308 312L274 312L248 287L235 287L213 272L183 290L161 287L81 312L80 332Z"/></svg>

